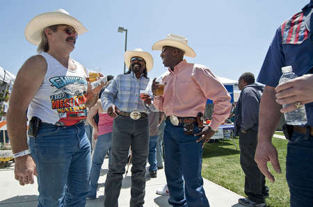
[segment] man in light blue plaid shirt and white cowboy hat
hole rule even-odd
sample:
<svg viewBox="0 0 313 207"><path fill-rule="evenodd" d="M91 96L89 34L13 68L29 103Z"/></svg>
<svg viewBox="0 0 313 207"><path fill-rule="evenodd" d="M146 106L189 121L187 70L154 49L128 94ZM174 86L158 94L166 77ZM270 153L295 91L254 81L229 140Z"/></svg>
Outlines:
<svg viewBox="0 0 313 207"><path fill-rule="evenodd" d="M111 162L106 176L104 206L118 206L118 197L129 147L131 147L131 200L130 206L143 206L145 197L145 165L147 163L149 124L151 105L149 95L141 99L141 90L147 88L150 78L147 72L153 67L150 53L142 49L126 51L125 64L129 68L125 74L113 78L102 93L102 108L114 118Z"/></svg>

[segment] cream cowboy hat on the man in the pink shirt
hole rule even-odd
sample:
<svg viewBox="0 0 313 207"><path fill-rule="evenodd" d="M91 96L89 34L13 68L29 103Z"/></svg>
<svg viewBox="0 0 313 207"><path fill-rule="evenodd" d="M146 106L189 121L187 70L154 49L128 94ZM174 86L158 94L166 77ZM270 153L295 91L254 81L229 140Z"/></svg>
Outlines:
<svg viewBox="0 0 313 207"><path fill-rule="evenodd" d="M168 34L166 39L155 42L152 45L153 50L162 50L163 46L170 46L181 49L184 51L184 56L188 56L191 58L195 57L195 51L188 46L187 38L181 35Z"/></svg>

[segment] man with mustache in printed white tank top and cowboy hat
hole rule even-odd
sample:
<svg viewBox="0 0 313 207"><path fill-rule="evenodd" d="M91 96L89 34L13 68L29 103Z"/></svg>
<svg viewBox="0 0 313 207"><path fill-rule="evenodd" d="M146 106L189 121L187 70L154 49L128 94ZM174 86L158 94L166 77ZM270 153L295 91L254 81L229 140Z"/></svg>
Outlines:
<svg viewBox="0 0 313 207"><path fill-rule="evenodd" d="M90 90L86 69L70 58L77 36L86 31L62 9L42 13L26 26L26 40L38 45L39 54L19 69L7 118L15 179L25 185L38 175L38 206L86 204L90 143L83 120L99 88Z"/></svg>

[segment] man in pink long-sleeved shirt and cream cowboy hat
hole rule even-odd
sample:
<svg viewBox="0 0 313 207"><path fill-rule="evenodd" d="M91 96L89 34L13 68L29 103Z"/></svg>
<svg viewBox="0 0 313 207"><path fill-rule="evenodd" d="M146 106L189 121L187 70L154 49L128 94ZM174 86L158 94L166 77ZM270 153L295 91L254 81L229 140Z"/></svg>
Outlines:
<svg viewBox="0 0 313 207"><path fill-rule="evenodd" d="M169 34L152 49L161 50L163 65L169 67L162 79L166 84L163 94L154 96L154 106L168 116L163 137L168 202L172 206L209 206L202 187L202 147L230 115L230 94L209 68L184 60L184 56L195 57L186 38ZM154 95L159 85L154 79ZM214 113L209 126L202 128L207 99L214 101Z"/></svg>

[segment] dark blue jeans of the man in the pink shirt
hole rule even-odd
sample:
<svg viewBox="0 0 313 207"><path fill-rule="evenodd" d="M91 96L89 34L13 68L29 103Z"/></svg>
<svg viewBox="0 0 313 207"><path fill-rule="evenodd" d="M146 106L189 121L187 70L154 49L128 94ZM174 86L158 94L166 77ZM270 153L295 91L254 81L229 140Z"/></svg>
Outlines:
<svg viewBox="0 0 313 207"><path fill-rule="evenodd" d="M193 130L195 133L200 131L197 126ZM164 163L170 192L168 203L172 206L209 206L201 176L202 142L195 142L198 138L184 135L182 124L173 126L169 119L166 120Z"/></svg>

